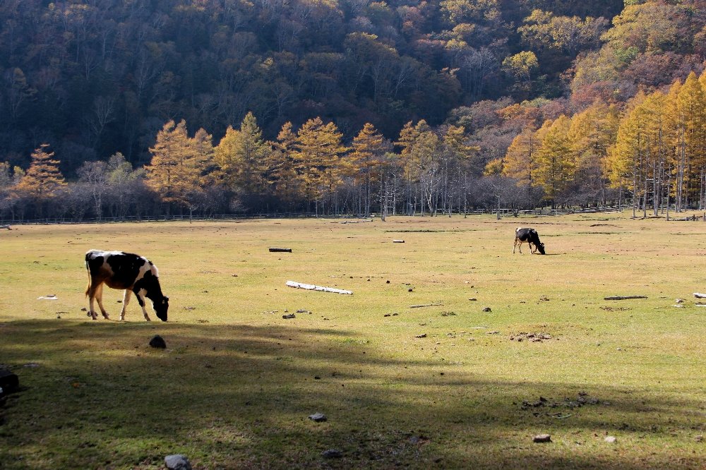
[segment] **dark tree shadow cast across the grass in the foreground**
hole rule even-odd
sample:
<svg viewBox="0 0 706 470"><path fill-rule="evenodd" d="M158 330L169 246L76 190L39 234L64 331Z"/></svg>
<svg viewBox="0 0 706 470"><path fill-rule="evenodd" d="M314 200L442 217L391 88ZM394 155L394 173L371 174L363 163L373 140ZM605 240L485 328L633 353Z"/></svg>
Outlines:
<svg viewBox="0 0 706 470"><path fill-rule="evenodd" d="M1 332L0 362L24 387L0 411L7 469L163 468L177 452L204 469L636 470L704 457L702 403L469 375L385 357L344 330L52 320ZM167 349L148 347L155 334ZM545 432L554 442L532 443ZM343 457L322 457L334 448Z"/></svg>

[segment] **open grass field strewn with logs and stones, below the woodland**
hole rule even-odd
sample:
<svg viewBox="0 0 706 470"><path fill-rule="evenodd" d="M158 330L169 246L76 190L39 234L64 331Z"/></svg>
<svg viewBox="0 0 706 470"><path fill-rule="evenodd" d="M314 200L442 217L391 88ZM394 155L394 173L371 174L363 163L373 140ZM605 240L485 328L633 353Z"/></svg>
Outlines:
<svg viewBox="0 0 706 470"><path fill-rule="evenodd" d="M0 468L706 468L705 223L341 222L0 231ZM513 254L518 225L547 255ZM89 248L150 258L169 322L87 318Z"/></svg>

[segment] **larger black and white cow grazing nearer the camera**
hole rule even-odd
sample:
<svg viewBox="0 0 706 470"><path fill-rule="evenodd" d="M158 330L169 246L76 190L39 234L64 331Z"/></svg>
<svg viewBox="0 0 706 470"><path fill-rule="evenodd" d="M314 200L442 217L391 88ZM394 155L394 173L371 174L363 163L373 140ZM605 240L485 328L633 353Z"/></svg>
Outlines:
<svg viewBox="0 0 706 470"><path fill-rule="evenodd" d="M160 320L167 321L169 297L162 294L160 276L157 266L150 260L133 253L123 251L89 250L86 252L86 270L88 270L88 315L95 320L97 313L93 308L93 299L97 299L100 311L104 318L108 313L103 308L103 284L112 289L125 289L123 294L123 308L120 319L125 320L125 308L130 301L131 292L135 293L145 320L150 321L150 316L145 309L145 297L152 301L152 308Z"/></svg>

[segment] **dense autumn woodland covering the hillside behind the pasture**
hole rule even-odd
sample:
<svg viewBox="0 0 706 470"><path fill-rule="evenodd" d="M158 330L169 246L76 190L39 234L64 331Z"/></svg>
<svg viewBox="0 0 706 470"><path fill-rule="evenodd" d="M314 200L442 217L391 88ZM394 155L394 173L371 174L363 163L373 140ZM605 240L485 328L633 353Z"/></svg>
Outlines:
<svg viewBox="0 0 706 470"><path fill-rule="evenodd" d="M2 0L0 218L703 209L705 6Z"/></svg>

